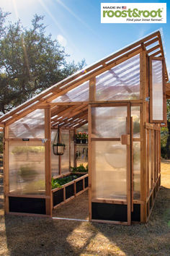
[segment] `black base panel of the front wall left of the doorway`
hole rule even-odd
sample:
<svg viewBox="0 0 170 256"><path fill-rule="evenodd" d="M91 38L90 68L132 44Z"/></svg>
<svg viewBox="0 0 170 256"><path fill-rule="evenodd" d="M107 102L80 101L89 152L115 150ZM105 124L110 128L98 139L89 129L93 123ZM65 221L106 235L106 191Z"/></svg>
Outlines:
<svg viewBox="0 0 170 256"><path fill-rule="evenodd" d="M45 199L9 197L9 212L45 214Z"/></svg>

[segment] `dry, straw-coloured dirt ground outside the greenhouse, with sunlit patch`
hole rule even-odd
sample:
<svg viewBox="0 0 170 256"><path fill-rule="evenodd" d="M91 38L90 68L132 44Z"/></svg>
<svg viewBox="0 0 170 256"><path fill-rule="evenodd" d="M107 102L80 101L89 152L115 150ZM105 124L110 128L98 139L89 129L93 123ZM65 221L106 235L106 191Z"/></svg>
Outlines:
<svg viewBox="0 0 170 256"><path fill-rule="evenodd" d="M170 161L161 170L150 221L132 226L4 217L1 170L0 255L170 255Z"/></svg>

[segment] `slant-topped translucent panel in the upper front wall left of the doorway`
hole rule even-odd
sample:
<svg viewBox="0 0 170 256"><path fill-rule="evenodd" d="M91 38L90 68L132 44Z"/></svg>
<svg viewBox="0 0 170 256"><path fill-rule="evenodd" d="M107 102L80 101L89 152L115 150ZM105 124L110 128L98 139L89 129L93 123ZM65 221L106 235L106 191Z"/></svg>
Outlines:
<svg viewBox="0 0 170 256"><path fill-rule="evenodd" d="M44 109L37 109L9 125L10 138L44 138Z"/></svg>

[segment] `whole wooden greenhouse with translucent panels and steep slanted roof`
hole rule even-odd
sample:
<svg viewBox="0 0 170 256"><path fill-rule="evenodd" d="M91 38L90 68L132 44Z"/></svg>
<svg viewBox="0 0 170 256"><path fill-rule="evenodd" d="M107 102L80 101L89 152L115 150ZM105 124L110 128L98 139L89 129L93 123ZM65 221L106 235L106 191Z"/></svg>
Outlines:
<svg viewBox="0 0 170 256"><path fill-rule="evenodd" d="M156 31L1 116L5 213L52 216L55 205L89 188L89 221L148 221L161 183L168 81ZM63 155L53 154L58 127ZM86 145L76 144L80 127L88 129ZM78 164L77 147L89 174L52 192L52 176Z"/></svg>

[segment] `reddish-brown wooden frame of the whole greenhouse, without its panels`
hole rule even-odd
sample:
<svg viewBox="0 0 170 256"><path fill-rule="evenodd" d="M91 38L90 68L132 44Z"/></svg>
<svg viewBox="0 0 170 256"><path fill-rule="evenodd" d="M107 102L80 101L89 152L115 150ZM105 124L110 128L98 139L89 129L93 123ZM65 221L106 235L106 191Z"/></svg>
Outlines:
<svg viewBox="0 0 170 256"><path fill-rule="evenodd" d="M156 44L157 43L157 44ZM97 76L103 72L108 71L112 67L116 67L118 64L122 64L124 61L140 55L140 97L138 99L128 98L120 101L97 101ZM164 97L164 120L153 120L152 112L152 70L151 61L160 60L163 63L163 97ZM149 64L150 63L150 64ZM123 72L122 72L123 73ZM115 75L115 74L113 74ZM122 74L122 78L126 80L126 75ZM133 77L134 78L134 77ZM116 78L117 79L117 78ZM151 210L153 209L153 203L156 200L156 195L158 194L158 189L160 187L161 181L161 146L160 146L160 124L164 122L166 124L166 97L169 98L169 80L168 73L166 70L166 64L164 59L164 50L161 42L161 34L159 31L148 35L146 38L138 40L138 42L133 43L121 51L102 59L96 64L87 67L85 70L81 70L71 77L66 78L58 84L53 85L45 92L38 94L35 98L22 104L10 111L9 113L1 116L0 118L0 128L4 129L4 202L5 202L5 213L9 213L9 197L25 197L25 198L42 198L45 200L45 213L46 216L52 216L53 209L53 193L51 192L51 166L50 166L50 150L51 150L51 129L57 129L58 124L60 124L61 129L69 130L69 170L71 166L71 130L75 133L76 129L82 127L84 124L89 124L89 221L98 221L104 223L120 223L125 225L130 225L133 222L131 216L135 211L136 205L140 205L140 220L138 222L146 223L149 216L151 215ZM66 93L71 92L74 88L79 88L84 82L89 81L89 99L88 101L71 101ZM150 85L150 87L149 87ZM113 92L114 93L114 92ZM53 101L59 96L65 95L66 101L62 97L61 101ZM150 96L150 103L149 103ZM127 135L121 136L119 139L115 138L96 138L91 135L91 108L99 106L126 106L128 109L128 119L127 119ZM131 117L131 107L140 106L140 137L133 137L133 118ZM9 193L9 142L22 141L21 138L9 139L9 126L15 121L21 119L27 114L38 108L45 109L45 195L15 195L14 193ZM150 123L149 123L150 122ZM153 124L151 124L153 123ZM151 141L149 141L151 133ZM30 141L39 141L40 138L33 138ZM94 141L122 141L122 144L127 145L128 156L127 156L127 200L110 200L109 198L101 199L96 198L91 200L91 142ZM134 199L133 193L133 142L140 142L140 198L138 200ZM149 142L151 143L152 154L150 157ZM58 170L60 176L62 176L62 157L59 156ZM151 159L151 164L149 160ZM76 166L76 145L74 144L74 166ZM88 175L88 174L87 174ZM78 182L81 179L78 179ZM82 178L84 192L87 188L85 187L85 178ZM76 181L77 182L77 181ZM74 195L66 199L66 184L62 187L63 189L63 202L61 204L68 202L76 195L81 192L76 192L76 182L72 182L74 187ZM151 184L151 187L150 187ZM59 189L55 189L55 192ZM128 205L128 220L127 221L102 221L91 219L91 202L103 202L109 204L117 205ZM61 205L59 204L59 205ZM58 206L57 206L58 207ZM10 213L11 214L11 213ZM13 213L12 213L13 214ZM16 213L14 213L16 214ZM17 213L21 215L22 213ZM27 213L24 213L27 214ZM23 215L24 215L23 214ZM32 214L29 214L32 216ZM38 216L38 215L37 215Z"/></svg>

